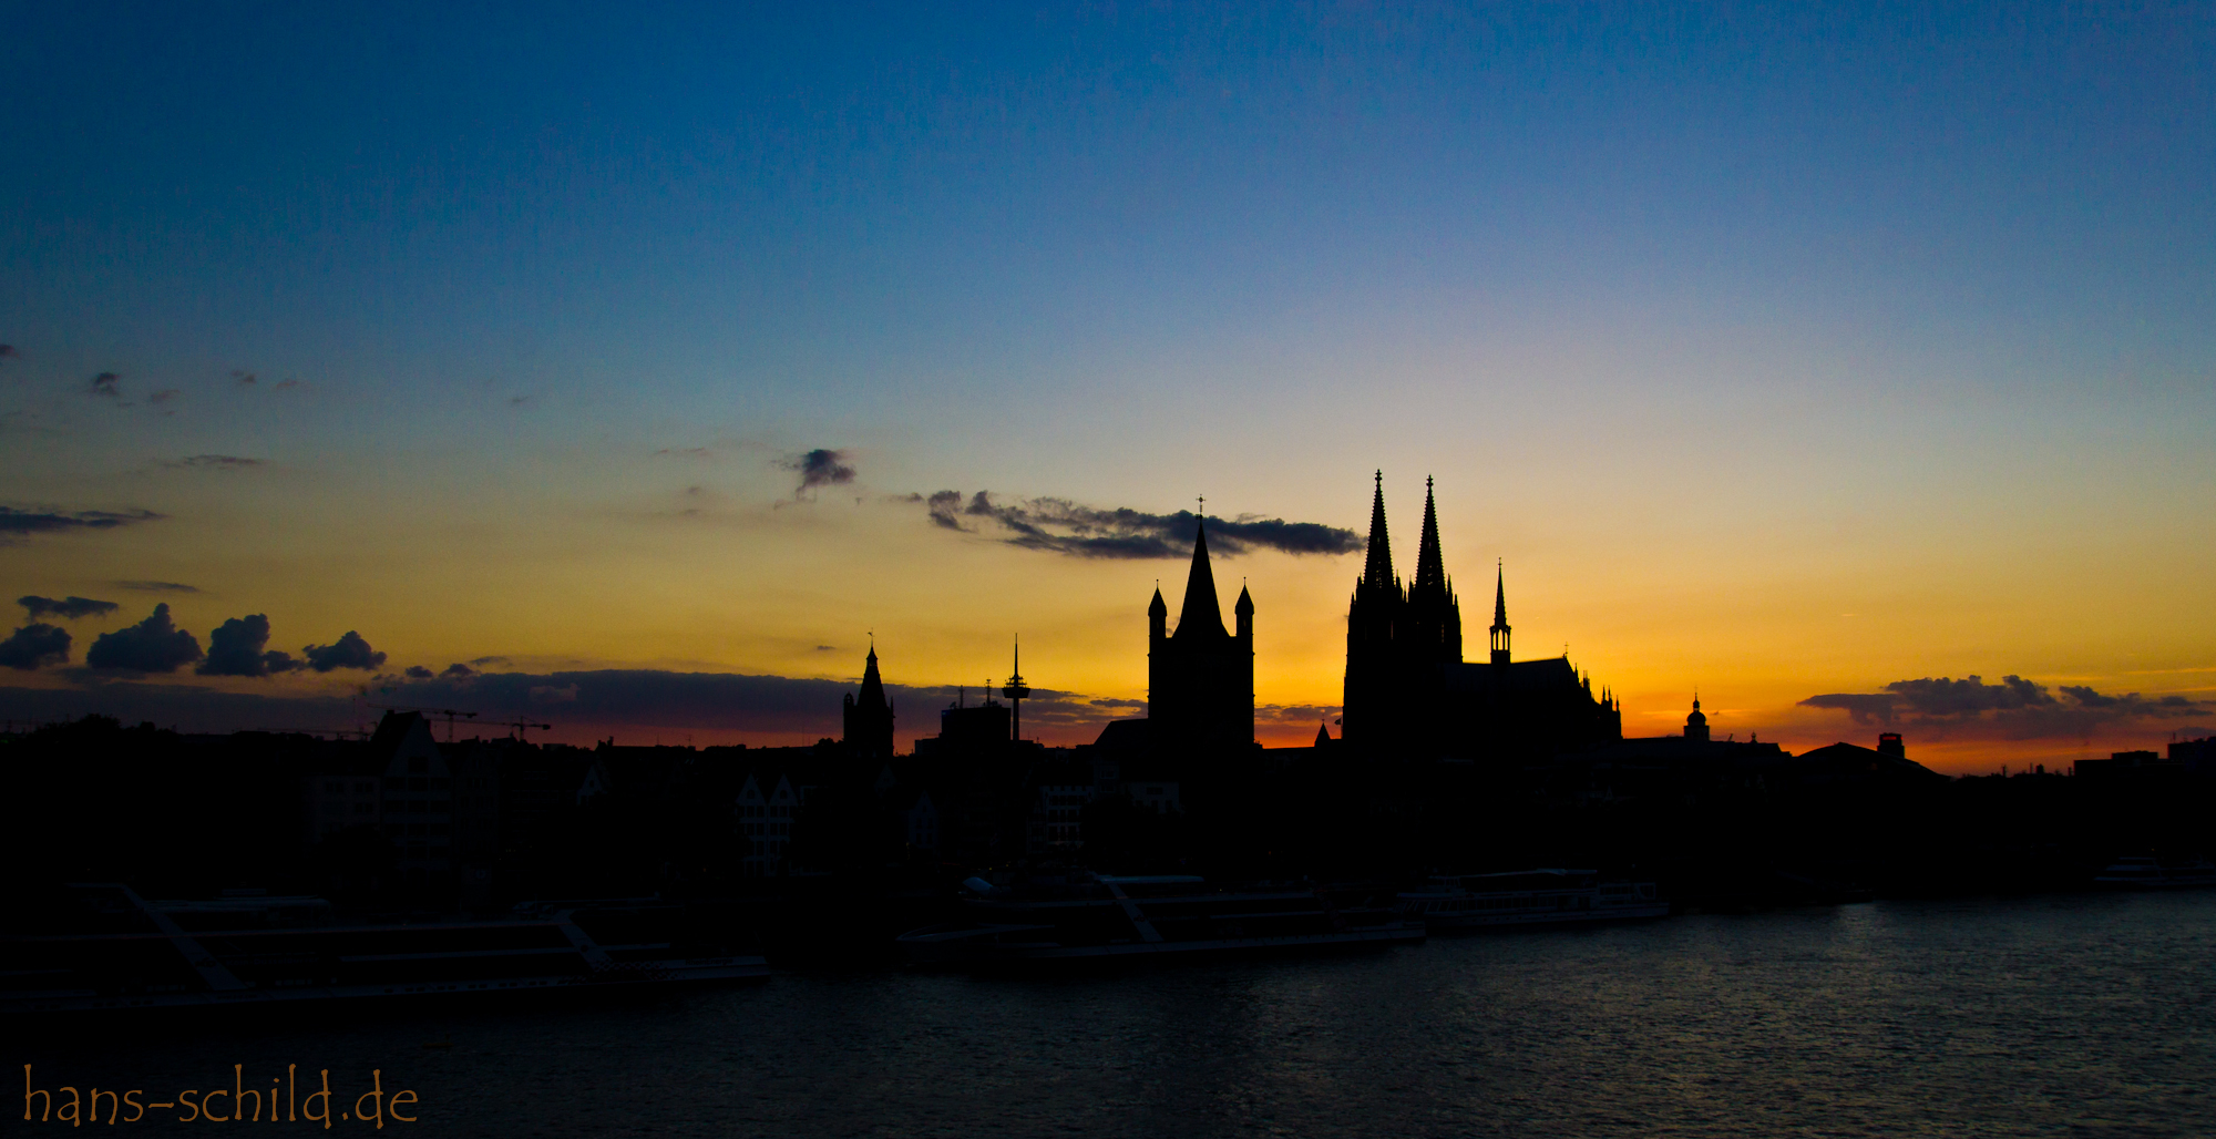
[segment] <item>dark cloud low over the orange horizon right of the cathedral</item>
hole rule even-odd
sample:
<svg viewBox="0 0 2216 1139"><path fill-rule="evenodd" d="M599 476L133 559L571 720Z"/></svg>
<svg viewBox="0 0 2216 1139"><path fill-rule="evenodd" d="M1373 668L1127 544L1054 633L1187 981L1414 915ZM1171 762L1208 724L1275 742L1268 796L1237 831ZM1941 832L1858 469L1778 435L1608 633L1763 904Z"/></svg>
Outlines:
<svg viewBox="0 0 2216 1139"><path fill-rule="evenodd" d="M1857 725L1926 729L1939 733L1988 733L2010 740L2090 738L2105 725L2178 720L2216 711L2216 700L2187 696L2105 696L2085 685L2061 685L2056 698L2045 685L2003 676L1892 680L1884 691L1835 691L1810 696L1802 707L1846 711Z"/></svg>

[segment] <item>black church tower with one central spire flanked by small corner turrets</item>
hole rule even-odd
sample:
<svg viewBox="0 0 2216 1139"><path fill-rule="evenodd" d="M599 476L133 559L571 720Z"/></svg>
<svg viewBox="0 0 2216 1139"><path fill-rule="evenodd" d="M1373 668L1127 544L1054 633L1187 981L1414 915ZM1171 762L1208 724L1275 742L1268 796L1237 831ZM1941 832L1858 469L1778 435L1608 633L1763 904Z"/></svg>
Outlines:
<svg viewBox="0 0 2216 1139"><path fill-rule="evenodd" d="M1254 747L1254 598L1245 587L1232 605L1239 632L1223 629L1217 576L1208 565L1208 523L1192 536L1192 572L1177 632L1155 589L1146 607L1146 718L1161 749Z"/></svg>

